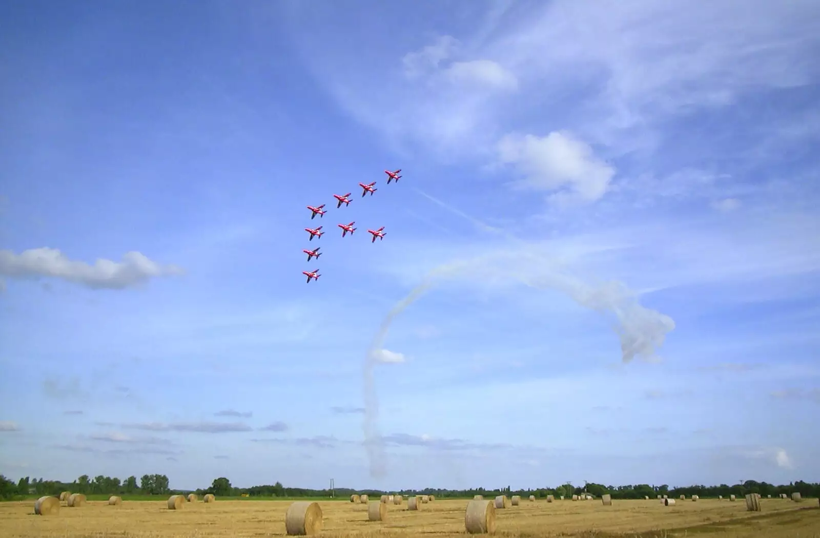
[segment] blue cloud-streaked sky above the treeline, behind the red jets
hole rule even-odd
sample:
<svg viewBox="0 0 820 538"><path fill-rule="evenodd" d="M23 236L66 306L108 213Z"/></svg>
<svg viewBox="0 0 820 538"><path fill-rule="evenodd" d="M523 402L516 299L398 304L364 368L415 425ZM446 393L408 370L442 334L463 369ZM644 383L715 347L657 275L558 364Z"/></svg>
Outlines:
<svg viewBox="0 0 820 538"><path fill-rule="evenodd" d="M650 3L0 7L0 472L820 480L820 6Z"/></svg>

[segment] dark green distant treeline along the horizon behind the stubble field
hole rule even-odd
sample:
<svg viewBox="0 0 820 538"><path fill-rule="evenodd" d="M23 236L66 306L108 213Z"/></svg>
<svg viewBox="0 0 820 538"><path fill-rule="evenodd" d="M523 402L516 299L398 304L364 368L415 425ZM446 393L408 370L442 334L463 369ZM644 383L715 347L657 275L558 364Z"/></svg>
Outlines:
<svg viewBox="0 0 820 538"><path fill-rule="evenodd" d="M168 483L168 477L165 475L144 475L137 480L136 476L129 476L124 480L111 476L95 476L90 478L88 475L78 477L73 482L61 482L43 480L43 478L30 479L29 476L21 478L15 483L0 475L0 499L8 500L16 497L28 495L60 495L61 491L71 491L72 493L84 493L86 495L170 495L171 493L188 493L189 490L171 490ZM230 481L221 476L212 481L211 486L194 490L198 495L212 493L217 497L327 497L331 495L337 498L348 498L350 495L367 494L367 495L383 495L385 493L396 493L400 495L435 495L439 499L458 499L470 498L473 495L535 495L537 498L544 498L547 495L569 497L571 495L580 495L586 492L589 495L600 497L608 493L612 495L613 499L643 499L646 495L654 497L655 495L670 495L676 497L678 495L699 495L700 497L717 497L723 495L746 495L748 493L759 493L766 497L772 495L777 497L781 493L791 495L794 492L799 492L804 497L818 497L820 496L820 483L809 483L804 481L796 481L788 485L775 486L767 482L758 482L754 480L747 480L743 484L735 484L729 486L721 484L720 486L681 486L670 488L666 484L662 486L649 486L649 484L636 484L632 486L604 486L603 484L595 484L589 482L585 486L573 486L572 484L563 484L558 487L527 489L527 490L512 490L509 486L499 488L496 490L487 490L485 488L474 488L470 490L442 490L438 488L426 488L424 490L352 490L349 488L336 488L335 490L309 490L307 488L290 488L285 487L276 482L272 486L253 486L249 488L238 488L231 485Z"/></svg>

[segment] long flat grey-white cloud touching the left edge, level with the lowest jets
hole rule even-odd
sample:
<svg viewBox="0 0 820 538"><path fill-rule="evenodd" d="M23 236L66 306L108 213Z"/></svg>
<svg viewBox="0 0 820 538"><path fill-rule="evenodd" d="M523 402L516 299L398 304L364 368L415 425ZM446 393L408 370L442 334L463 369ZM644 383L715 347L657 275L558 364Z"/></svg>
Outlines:
<svg viewBox="0 0 820 538"><path fill-rule="evenodd" d="M182 269L162 266L139 252L128 252L121 262L99 258L93 265L66 257L57 248L30 248L20 254L0 250L0 275L11 278L51 276L93 290L122 290L158 276L180 275Z"/></svg>

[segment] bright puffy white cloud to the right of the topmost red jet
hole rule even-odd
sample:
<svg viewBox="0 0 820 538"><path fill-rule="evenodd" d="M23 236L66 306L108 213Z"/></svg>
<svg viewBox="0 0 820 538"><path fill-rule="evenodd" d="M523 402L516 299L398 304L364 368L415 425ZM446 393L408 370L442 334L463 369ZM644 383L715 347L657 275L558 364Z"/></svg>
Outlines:
<svg viewBox="0 0 820 538"><path fill-rule="evenodd" d="M507 134L499 141L501 162L512 163L536 190L567 188L585 202L604 196L615 169L594 156L592 148L567 132L544 137Z"/></svg>

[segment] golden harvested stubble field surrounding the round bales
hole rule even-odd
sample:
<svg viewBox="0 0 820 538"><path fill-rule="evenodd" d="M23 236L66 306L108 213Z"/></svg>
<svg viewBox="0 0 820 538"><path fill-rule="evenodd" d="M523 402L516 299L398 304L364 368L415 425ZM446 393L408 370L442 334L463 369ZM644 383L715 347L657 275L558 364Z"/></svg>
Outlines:
<svg viewBox="0 0 820 538"><path fill-rule="evenodd" d="M808 499L807 499L808 500ZM0 503L0 538L251 538L285 536L285 512L292 501L225 500L188 503L169 510L167 498L131 501L117 507L89 501L52 517L34 513L34 501ZM386 522L369 522L367 504L319 501L324 514L321 536L467 536L467 499L440 499L424 510L389 506ZM612 506L570 500L533 503L498 510L499 536L579 536L584 538L820 538L818 503L763 500L763 512L747 512L743 503L700 499L663 506L656 499L617 500ZM132 529L132 530L128 530Z"/></svg>

